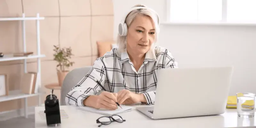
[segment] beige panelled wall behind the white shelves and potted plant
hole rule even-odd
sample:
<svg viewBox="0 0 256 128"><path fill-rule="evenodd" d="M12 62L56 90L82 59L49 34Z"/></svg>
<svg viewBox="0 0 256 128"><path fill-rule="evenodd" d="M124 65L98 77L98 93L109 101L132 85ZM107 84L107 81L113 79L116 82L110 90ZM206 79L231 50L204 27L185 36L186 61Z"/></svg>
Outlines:
<svg viewBox="0 0 256 128"><path fill-rule="evenodd" d="M53 45L71 46L74 68L92 65L98 56L97 40L113 40L112 0L0 0L0 17L20 17L22 13L45 17L40 21L42 58L42 90L45 84L57 82ZM26 21L27 51L36 53L36 22ZM0 21L0 52L22 52L21 21ZM0 74L9 75L9 90L20 89L22 60L0 62ZM36 71L36 59L28 60L28 71ZM60 98L60 93L55 91ZM42 103L45 95L42 96ZM37 97L28 99L29 106L37 105ZM0 102L0 112L23 108L23 99Z"/></svg>

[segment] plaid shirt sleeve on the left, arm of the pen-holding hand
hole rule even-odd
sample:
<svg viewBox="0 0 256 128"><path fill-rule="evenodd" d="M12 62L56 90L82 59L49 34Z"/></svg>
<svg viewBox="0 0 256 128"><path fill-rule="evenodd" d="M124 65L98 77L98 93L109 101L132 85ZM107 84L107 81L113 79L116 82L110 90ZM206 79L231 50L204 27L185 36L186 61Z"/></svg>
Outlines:
<svg viewBox="0 0 256 128"><path fill-rule="evenodd" d="M106 70L103 66L103 58L95 60L91 70L84 76L79 83L74 86L65 97L66 104L84 106L83 101L90 95L97 95L102 92L100 85L93 80L96 78L101 85L105 85Z"/></svg>

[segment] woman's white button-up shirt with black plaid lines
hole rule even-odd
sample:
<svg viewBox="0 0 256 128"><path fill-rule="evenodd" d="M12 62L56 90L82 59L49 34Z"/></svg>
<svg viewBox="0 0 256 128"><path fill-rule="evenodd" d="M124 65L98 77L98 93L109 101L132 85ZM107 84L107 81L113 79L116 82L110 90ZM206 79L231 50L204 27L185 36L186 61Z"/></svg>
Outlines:
<svg viewBox="0 0 256 128"><path fill-rule="evenodd" d="M125 50L126 51L126 50ZM138 72L135 70L127 52L120 53L116 48L98 58L89 73L66 95L69 105L84 106L83 100L90 95L99 95L101 87L96 78L108 92L128 89L136 94L142 93L146 104L154 104L157 85L157 72L161 68L178 68L171 53L163 47L155 47L146 53Z"/></svg>

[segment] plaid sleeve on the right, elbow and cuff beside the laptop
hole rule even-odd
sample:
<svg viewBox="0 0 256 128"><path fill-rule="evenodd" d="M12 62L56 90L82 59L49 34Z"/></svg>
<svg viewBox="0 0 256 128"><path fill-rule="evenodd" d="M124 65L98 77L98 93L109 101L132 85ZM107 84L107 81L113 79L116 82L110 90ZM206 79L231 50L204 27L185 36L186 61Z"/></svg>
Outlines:
<svg viewBox="0 0 256 128"><path fill-rule="evenodd" d="M174 60L171 52L167 49L163 54L163 60L164 60L163 68L178 68L178 63ZM147 100L146 104L152 105L155 103L156 91L142 92L142 94L145 96Z"/></svg>

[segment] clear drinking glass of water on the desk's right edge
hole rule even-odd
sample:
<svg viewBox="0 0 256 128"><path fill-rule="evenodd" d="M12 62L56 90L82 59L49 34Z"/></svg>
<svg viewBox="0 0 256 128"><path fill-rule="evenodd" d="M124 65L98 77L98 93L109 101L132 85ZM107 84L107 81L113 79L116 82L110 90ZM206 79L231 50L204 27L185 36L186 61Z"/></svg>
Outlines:
<svg viewBox="0 0 256 128"><path fill-rule="evenodd" d="M254 104L255 104L255 94L254 93L236 93L236 109L237 109L237 116L250 118L254 117Z"/></svg>

